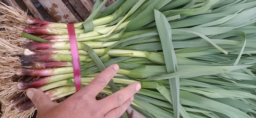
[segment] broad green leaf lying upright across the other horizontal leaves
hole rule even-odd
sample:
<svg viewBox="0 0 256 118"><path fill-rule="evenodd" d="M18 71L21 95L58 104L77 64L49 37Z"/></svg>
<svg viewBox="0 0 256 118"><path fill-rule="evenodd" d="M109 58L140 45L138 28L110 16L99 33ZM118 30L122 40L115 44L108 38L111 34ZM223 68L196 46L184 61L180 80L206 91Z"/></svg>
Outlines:
<svg viewBox="0 0 256 118"><path fill-rule="evenodd" d="M164 51L164 61L167 69L167 73L178 71L178 63L176 60L175 52L172 46L172 33L171 26L167 18L158 10L154 10L156 27L160 36L162 48ZM179 77L170 78L170 87L172 94L172 106L174 111L174 117L180 117L180 81Z"/></svg>

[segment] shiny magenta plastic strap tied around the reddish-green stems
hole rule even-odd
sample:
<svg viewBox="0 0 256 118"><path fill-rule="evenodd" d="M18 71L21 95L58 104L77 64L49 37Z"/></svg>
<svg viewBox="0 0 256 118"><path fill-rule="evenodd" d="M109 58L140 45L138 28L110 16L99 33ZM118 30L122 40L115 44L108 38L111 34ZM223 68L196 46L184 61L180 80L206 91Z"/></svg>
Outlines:
<svg viewBox="0 0 256 118"><path fill-rule="evenodd" d="M69 37L72 62L73 62L75 86L76 86L76 91L79 91L81 87L81 70L80 70L79 54L78 54L77 45L76 45L75 27L73 24L71 25L68 24L67 27L68 27L68 37Z"/></svg>

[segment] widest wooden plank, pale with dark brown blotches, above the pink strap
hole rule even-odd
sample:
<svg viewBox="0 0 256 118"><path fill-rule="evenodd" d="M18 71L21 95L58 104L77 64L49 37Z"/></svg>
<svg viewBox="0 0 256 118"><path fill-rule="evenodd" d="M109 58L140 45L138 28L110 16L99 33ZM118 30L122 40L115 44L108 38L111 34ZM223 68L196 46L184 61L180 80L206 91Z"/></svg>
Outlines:
<svg viewBox="0 0 256 118"><path fill-rule="evenodd" d="M58 23L78 23L76 17L69 11L66 5L61 0L38 0L44 9Z"/></svg>

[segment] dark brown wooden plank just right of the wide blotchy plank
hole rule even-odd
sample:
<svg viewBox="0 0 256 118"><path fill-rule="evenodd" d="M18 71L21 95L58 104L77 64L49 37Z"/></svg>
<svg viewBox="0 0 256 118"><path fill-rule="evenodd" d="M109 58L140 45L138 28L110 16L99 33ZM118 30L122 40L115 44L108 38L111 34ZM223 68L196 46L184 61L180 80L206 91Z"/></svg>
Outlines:
<svg viewBox="0 0 256 118"><path fill-rule="evenodd" d="M80 0L68 0L69 3L75 8L77 13L85 20L89 17L90 12L85 8Z"/></svg>

